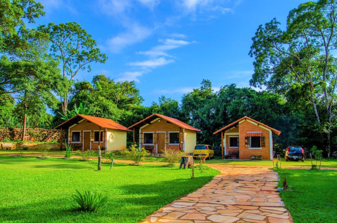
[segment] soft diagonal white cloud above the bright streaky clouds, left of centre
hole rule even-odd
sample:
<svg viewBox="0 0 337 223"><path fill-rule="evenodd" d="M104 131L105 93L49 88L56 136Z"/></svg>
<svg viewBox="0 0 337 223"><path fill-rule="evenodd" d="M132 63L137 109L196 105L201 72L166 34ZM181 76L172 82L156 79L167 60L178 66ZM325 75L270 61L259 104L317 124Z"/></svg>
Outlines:
<svg viewBox="0 0 337 223"><path fill-rule="evenodd" d="M152 30L138 24L133 24L128 31L108 39L106 42L109 49L114 53L119 53L124 47L132 45L149 37Z"/></svg>

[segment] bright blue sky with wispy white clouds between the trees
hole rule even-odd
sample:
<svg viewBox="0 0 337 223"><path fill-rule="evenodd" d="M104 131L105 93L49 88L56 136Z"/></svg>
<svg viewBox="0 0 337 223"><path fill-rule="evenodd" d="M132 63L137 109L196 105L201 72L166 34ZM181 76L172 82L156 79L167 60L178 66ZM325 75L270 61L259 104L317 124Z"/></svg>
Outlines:
<svg viewBox="0 0 337 223"><path fill-rule="evenodd" d="M214 90L248 87L251 37L260 24L286 21L297 0L41 0L37 24L77 22L108 56L75 79L105 74L135 81L144 105L183 94L210 79Z"/></svg>

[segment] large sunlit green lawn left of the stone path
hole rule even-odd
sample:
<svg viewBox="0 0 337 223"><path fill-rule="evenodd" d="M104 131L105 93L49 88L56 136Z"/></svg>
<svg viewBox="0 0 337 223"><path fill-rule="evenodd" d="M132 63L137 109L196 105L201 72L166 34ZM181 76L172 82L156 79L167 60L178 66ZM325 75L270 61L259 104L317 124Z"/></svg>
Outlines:
<svg viewBox="0 0 337 223"><path fill-rule="evenodd" d="M191 169L162 165L102 164L78 159L48 160L0 156L1 222L135 223L174 199L209 182L219 172L209 168L195 179ZM74 211L75 189L109 196L98 213Z"/></svg>

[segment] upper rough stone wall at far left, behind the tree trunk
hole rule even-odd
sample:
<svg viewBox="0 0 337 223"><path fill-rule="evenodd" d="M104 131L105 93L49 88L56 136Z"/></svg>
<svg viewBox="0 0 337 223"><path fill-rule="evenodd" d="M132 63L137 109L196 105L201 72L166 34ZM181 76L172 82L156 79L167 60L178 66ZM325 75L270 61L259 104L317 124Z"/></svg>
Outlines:
<svg viewBox="0 0 337 223"><path fill-rule="evenodd" d="M62 131L62 139L68 138L68 131ZM6 128L0 127L0 141L9 138L11 141L21 140L22 128ZM25 140L51 142L60 141L60 130L58 129L42 129L27 128L25 132Z"/></svg>

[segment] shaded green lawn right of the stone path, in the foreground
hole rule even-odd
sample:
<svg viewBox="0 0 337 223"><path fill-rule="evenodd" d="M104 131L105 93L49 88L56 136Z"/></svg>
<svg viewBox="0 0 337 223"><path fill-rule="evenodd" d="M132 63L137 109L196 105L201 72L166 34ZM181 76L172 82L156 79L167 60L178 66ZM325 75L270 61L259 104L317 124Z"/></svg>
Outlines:
<svg viewBox="0 0 337 223"><path fill-rule="evenodd" d="M294 223L337 222L337 171L278 169L278 187L284 178L295 192L281 191L280 196L293 216Z"/></svg>

